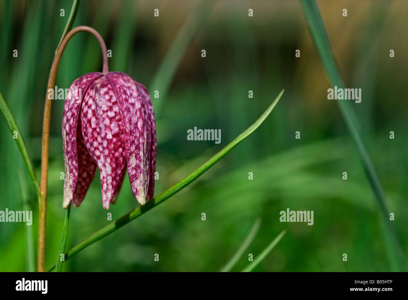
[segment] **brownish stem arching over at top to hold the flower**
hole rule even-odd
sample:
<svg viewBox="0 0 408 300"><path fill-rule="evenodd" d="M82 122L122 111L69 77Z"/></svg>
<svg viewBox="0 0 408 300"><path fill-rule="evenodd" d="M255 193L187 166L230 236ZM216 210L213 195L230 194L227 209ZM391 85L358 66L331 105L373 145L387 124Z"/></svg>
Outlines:
<svg viewBox="0 0 408 300"><path fill-rule="evenodd" d="M49 148L49 128L51 117L51 91L54 89L55 77L57 76L58 65L64 53L69 40L80 31L92 33L98 39L102 49L103 68L102 73L109 72L108 55L106 45L100 34L93 28L88 26L78 26L67 33L64 39L60 42L55 53L54 60L51 65L50 75L47 84L47 96L45 97L44 119L42 123L42 149L41 149L41 182L40 192L38 197L38 246L37 246L37 271L44 272L44 256L45 256L45 228L46 228L46 211L47 211L47 184L48 184L48 148ZM51 90L51 91L50 91Z"/></svg>

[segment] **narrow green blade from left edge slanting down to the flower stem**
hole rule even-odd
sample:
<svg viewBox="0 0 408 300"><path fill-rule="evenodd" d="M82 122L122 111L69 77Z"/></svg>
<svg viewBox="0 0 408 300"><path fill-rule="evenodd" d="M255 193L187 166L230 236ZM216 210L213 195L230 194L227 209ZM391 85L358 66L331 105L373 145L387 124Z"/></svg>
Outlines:
<svg viewBox="0 0 408 300"><path fill-rule="evenodd" d="M16 134L17 138L14 140L17 143L18 149L20 149L21 156L23 157L24 163L27 167L28 173L30 174L31 181L34 184L35 191L37 192L38 196L41 195L40 193L40 185L38 184L37 177L35 176L35 171L33 167L33 162L31 161L30 155L27 150L27 145L24 142L24 138L18 129L16 120L14 120L9 107L7 107L6 102L2 94L0 93L0 110L6 120L7 125L11 131L12 137Z"/></svg>

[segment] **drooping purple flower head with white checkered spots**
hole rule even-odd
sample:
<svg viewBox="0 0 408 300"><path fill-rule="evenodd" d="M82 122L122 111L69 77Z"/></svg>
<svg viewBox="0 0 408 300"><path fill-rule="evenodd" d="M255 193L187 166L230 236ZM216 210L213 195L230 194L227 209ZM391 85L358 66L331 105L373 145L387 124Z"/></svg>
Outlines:
<svg viewBox="0 0 408 300"><path fill-rule="evenodd" d="M64 103L62 140L64 208L81 204L96 167L104 209L115 203L126 167L136 200L153 198L155 115L147 89L130 76L93 72L75 80Z"/></svg>

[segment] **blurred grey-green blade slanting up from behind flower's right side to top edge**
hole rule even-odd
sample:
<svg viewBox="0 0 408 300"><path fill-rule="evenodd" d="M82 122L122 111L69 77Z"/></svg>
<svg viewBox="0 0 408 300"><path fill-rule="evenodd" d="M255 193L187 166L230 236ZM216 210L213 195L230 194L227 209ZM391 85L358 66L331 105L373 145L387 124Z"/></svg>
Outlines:
<svg viewBox="0 0 408 300"><path fill-rule="evenodd" d="M175 72L177 71L177 66L180 64L188 45L197 35L206 18L210 14L213 5L214 0L204 0L200 2L194 13L192 13L191 16L184 22L182 28L177 33L177 37L162 60L159 69L157 69L155 73L155 76L153 76L153 80L149 85L149 92L152 93L156 90L160 92L160 97L155 98L153 103L156 119L158 119L158 116L160 115L162 101L166 97L171 81L173 80Z"/></svg>

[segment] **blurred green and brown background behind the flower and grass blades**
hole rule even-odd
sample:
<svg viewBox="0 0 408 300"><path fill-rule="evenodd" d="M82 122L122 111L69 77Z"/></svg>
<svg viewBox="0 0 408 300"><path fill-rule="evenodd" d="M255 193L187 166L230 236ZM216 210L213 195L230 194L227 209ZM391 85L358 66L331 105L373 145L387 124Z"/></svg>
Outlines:
<svg viewBox="0 0 408 300"><path fill-rule="evenodd" d="M353 106L407 258L408 2L317 3L347 87L362 89L361 103L353 101ZM0 92L26 140L38 179L47 79L71 5L70 0L0 1ZM250 8L253 17L248 17ZM342 16L344 8L347 17ZM112 50L111 71L128 73L151 95L160 91L159 99L152 98L160 176L155 195L244 131L282 88L285 93L259 129L203 176L67 260L64 271L217 271L258 217L259 232L233 271L245 267L248 253L257 256L285 228L284 238L254 271L391 271L377 202L339 107L327 99L330 83L299 2L82 1L74 27L79 25L102 35ZM191 41L187 39L185 49L173 48L162 64L180 31L179 39L191 35ZM18 58L13 58L14 49ZM300 58L295 58L296 49ZM390 49L395 58L389 57ZM84 73L101 69L97 40L79 33L62 56L56 85L68 88ZM171 78L168 87L166 76ZM253 98L248 98L249 90ZM63 105L53 101L46 269L56 260L65 215ZM188 141L187 129L194 127L221 129L221 144ZM35 190L4 120L0 128L0 210L22 210L27 199L36 236ZM300 131L299 140L295 131ZM390 131L395 132L393 140ZM343 172L348 180L342 180ZM97 172L84 202L71 210L66 250L112 222L108 212L115 220L137 205L126 176L117 204L102 209ZM287 208L313 210L313 226L279 222L279 211ZM0 271L25 270L25 230L24 223L0 223Z"/></svg>

